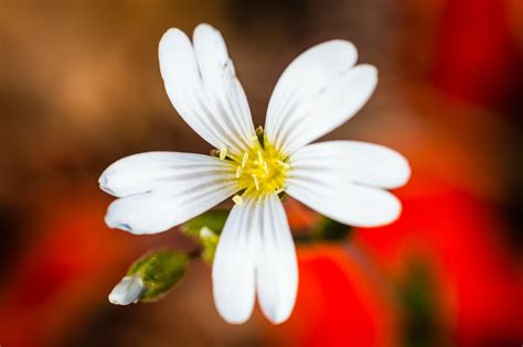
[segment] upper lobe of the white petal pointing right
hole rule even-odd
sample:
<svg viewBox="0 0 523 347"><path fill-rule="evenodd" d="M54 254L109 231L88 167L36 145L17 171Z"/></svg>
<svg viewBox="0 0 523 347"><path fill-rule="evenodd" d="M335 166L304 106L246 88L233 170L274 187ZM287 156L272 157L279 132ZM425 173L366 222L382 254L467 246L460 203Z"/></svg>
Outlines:
<svg viewBox="0 0 523 347"><path fill-rule="evenodd" d="M395 188L410 176L407 160L383 145L359 141L328 141L306 145L290 156L292 170L335 171L346 181Z"/></svg>

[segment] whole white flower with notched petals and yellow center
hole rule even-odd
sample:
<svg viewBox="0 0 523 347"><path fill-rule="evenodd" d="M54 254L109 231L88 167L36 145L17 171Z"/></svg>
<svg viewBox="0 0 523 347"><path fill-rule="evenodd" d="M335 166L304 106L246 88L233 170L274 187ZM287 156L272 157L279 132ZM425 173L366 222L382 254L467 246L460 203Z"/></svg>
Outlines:
<svg viewBox="0 0 523 347"><path fill-rule="evenodd" d="M230 323L243 323L257 294L273 323L286 321L298 269L279 193L353 226L384 225L401 212L385 191L408 180L401 154L355 141L309 144L354 116L374 91L377 71L354 65L356 55L352 43L333 40L298 56L276 85L258 141L220 32L201 24L191 44L182 31L167 31L159 46L167 94L220 158L150 152L115 162L99 180L119 197L108 208L107 225L160 232L234 195L213 263L217 311Z"/></svg>

